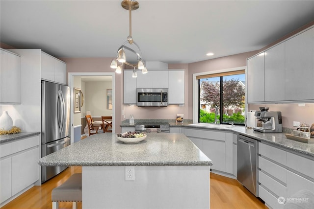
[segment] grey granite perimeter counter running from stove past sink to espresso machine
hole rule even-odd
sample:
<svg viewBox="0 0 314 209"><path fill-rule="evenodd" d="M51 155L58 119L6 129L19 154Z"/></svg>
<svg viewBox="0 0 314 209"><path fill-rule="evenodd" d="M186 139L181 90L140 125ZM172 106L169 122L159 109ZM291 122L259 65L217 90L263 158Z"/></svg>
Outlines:
<svg viewBox="0 0 314 209"><path fill-rule="evenodd" d="M207 129L207 130L213 130L213 131L228 131L233 132L235 134L242 134L247 137L251 137L253 139L257 139L260 141L263 141L269 145L285 148L289 151L296 152L302 155L306 155L308 157L314 158L314 143L304 143L300 141L295 141L291 139L287 139L285 136L285 133L261 133L258 131L254 131L253 129L247 129L244 126L233 126L230 128L211 128L211 127L202 127L202 126L190 126L192 124L192 120L190 119L184 119L183 123L176 123L176 121L173 119L159 119L159 120L144 120L143 121L162 121L162 122L168 122L170 124L170 127L185 127L185 128L193 128L193 129ZM136 121L142 121L141 119L135 120ZM129 120L124 120L121 127L127 127L129 125ZM133 125L134 127L134 125Z"/></svg>

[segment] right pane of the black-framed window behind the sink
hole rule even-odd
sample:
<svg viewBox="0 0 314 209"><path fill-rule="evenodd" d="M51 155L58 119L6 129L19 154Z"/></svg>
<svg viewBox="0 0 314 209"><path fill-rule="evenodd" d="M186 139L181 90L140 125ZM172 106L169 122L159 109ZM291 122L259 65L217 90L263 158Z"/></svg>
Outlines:
<svg viewBox="0 0 314 209"><path fill-rule="evenodd" d="M245 74L223 76L222 123L244 124Z"/></svg>

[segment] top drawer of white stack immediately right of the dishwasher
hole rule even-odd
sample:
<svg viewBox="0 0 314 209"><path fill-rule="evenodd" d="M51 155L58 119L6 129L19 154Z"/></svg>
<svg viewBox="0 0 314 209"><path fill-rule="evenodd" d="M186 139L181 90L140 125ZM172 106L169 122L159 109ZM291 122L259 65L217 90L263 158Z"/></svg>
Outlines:
<svg viewBox="0 0 314 209"><path fill-rule="evenodd" d="M287 165L287 152L284 150L260 143L259 154L283 165Z"/></svg>

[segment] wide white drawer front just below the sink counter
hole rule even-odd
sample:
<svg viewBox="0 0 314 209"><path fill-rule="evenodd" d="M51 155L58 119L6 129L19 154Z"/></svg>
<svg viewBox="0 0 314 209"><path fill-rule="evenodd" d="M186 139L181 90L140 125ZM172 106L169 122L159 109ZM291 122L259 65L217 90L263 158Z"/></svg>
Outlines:
<svg viewBox="0 0 314 209"><path fill-rule="evenodd" d="M185 129L184 133L187 137L196 137L196 138L203 138L203 139L214 139L214 140L225 141L224 132L207 131L207 130L200 130L200 129Z"/></svg>

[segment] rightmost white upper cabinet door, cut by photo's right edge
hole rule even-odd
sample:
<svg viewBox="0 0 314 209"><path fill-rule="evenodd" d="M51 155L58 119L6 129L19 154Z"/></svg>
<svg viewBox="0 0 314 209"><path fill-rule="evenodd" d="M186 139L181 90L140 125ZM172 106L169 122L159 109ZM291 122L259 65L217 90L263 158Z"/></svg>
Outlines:
<svg viewBox="0 0 314 209"><path fill-rule="evenodd" d="M314 28L286 41L286 100L314 99Z"/></svg>

